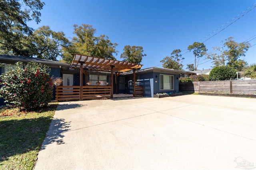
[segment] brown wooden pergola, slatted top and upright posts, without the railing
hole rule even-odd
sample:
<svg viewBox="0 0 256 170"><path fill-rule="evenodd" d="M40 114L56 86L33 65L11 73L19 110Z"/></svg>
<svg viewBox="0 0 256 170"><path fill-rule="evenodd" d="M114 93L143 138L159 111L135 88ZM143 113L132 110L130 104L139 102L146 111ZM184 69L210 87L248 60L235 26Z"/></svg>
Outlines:
<svg viewBox="0 0 256 170"><path fill-rule="evenodd" d="M116 76L118 76L121 72L126 72L129 70L133 70L133 96L135 97L135 70L141 68L141 66L141 64L103 59L80 54L74 54L74 58L71 63L71 68L80 70L80 93L82 93L83 89L83 73L86 74L86 70L111 72L111 98L113 98L114 93L114 72L116 73ZM82 94L80 94L80 100L82 100Z"/></svg>

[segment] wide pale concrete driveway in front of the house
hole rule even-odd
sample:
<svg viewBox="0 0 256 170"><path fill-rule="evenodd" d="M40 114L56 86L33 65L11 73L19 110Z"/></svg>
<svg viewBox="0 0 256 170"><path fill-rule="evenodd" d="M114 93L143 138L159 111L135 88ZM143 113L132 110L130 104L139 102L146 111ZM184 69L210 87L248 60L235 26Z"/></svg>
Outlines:
<svg viewBox="0 0 256 170"><path fill-rule="evenodd" d="M184 95L60 102L35 169L255 166L256 99Z"/></svg>

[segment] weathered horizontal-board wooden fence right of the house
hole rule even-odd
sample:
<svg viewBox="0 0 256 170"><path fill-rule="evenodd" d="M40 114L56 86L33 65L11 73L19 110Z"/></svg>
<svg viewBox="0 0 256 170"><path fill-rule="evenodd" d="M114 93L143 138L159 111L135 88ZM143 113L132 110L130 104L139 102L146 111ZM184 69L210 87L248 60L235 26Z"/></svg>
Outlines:
<svg viewBox="0 0 256 170"><path fill-rule="evenodd" d="M256 80L225 80L179 83L180 92L256 94Z"/></svg>

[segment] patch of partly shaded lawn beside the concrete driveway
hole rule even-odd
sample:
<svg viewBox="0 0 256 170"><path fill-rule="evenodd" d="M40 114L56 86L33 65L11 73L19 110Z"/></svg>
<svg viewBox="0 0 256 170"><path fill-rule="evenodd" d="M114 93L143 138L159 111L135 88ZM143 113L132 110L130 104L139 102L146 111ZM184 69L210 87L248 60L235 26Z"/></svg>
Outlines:
<svg viewBox="0 0 256 170"><path fill-rule="evenodd" d="M58 103L33 112L0 109L0 170L32 170Z"/></svg>

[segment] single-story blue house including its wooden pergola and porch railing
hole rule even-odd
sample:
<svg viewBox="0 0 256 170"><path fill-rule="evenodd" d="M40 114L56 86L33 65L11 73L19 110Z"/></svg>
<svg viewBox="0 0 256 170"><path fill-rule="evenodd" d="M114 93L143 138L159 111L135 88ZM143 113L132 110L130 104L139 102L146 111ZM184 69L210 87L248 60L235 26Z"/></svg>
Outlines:
<svg viewBox="0 0 256 170"><path fill-rule="evenodd" d="M92 94L92 90L101 89L101 91L110 90L108 94L112 97L113 94L133 94L135 87L140 86L143 88L142 95L144 97L153 97L153 94L156 93L178 91L178 78L189 77L194 74L168 68L151 67L140 69L142 66L140 64L84 55L75 55L71 64L25 56L0 55L0 63L2 63L0 74L18 61L23 63L33 61L46 64L51 68L50 76L61 77L63 82L60 86L56 86L56 93L54 88L54 96L55 94L65 95L64 91L66 90L69 94L74 92L76 96L88 97ZM90 93L82 93L83 88L84 90L86 88L87 90L89 89ZM75 92L75 90L79 89L81 93ZM101 92L95 92L94 95L96 93ZM83 98L79 97L77 99L81 100Z"/></svg>

